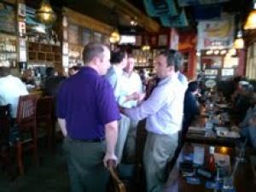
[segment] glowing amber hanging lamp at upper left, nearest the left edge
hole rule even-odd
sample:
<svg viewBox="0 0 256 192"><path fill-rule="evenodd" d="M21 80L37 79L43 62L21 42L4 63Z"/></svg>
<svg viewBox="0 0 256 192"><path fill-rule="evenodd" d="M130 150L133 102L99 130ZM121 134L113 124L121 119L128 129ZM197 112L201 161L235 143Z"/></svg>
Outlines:
<svg viewBox="0 0 256 192"><path fill-rule="evenodd" d="M49 0L43 0L40 8L36 11L36 17L44 24L52 24L56 20L56 15L49 4Z"/></svg>

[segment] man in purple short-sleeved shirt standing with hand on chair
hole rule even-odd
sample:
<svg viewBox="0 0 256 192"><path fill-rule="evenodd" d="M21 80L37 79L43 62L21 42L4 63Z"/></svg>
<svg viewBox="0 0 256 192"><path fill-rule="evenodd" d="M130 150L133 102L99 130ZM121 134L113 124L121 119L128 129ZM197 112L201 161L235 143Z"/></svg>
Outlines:
<svg viewBox="0 0 256 192"><path fill-rule="evenodd" d="M102 192L108 181L104 165L117 160L114 149L120 115L113 89L102 77L110 67L109 49L90 43L83 56L85 67L61 85L57 116L65 137L71 191Z"/></svg>

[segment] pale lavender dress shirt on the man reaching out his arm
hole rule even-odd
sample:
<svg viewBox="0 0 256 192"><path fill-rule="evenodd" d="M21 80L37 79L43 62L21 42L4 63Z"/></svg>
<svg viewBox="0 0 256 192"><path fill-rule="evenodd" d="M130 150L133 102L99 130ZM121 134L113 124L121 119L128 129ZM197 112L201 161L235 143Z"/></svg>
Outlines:
<svg viewBox="0 0 256 192"><path fill-rule="evenodd" d="M136 120L147 118L146 129L156 134L176 133L182 126L185 90L177 74L162 79L145 102L125 108L125 114Z"/></svg>

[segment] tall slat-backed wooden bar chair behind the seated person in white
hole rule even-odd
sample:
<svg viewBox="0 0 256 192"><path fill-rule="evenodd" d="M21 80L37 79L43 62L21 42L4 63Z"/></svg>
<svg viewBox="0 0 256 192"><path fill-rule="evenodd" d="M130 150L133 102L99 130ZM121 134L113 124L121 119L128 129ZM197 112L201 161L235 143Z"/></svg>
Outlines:
<svg viewBox="0 0 256 192"><path fill-rule="evenodd" d="M23 167L23 145L29 144L29 148L32 149L34 160L38 165L38 136L37 136L37 120L36 120L36 109L37 109L38 96L20 96L16 124L20 133L20 140L16 142L16 156L20 175L24 174ZM25 140L25 135L30 135L29 140Z"/></svg>

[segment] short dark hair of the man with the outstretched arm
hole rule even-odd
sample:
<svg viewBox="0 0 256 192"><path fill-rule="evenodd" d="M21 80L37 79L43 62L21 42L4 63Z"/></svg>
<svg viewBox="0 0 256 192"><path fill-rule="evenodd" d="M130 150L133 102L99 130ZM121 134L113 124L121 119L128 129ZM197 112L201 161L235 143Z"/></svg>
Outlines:
<svg viewBox="0 0 256 192"><path fill-rule="evenodd" d="M160 55L167 57L167 67L174 66L175 72L183 67L183 55L174 49L166 49L160 52Z"/></svg>

